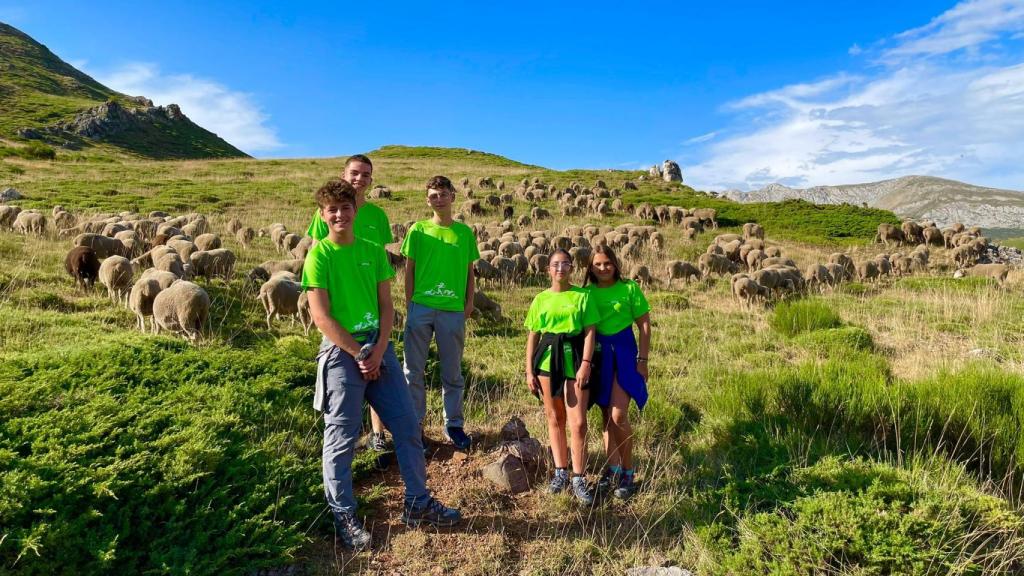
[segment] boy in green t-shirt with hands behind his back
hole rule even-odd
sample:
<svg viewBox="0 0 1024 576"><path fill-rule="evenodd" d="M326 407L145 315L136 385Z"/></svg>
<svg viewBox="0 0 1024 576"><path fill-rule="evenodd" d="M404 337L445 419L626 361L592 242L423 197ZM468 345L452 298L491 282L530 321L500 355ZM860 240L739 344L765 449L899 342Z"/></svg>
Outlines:
<svg viewBox="0 0 1024 576"><path fill-rule="evenodd" d="M444 436L456 448L472 444L464 429L462 401L465 382L462 353L466 319L473 313L473 262L480 257L476 236L452 218L455 187L444 176L427 182L427 205L433 217L412 225L401 253L406 261L406 381L420 424L427 413L423 378L430 340L437 342L444 401Z"/></svg>

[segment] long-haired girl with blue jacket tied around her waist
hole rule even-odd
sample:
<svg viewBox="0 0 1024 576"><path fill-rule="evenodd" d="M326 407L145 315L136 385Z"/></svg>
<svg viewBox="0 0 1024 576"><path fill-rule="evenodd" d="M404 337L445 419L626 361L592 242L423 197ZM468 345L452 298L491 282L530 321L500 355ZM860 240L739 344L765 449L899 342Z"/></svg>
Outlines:
<svg viewBox="0 0 1024 576"><path fill-rule="evenodd" d="M591 394L604 416L604 449L608 465L597 484L598 492L612 491L627 499L636 493L633 474L633 426L630 400L641 410L647 402L647 354L650 349L650 305L640 286L622 277L615 252L601 245L594 249L585 289L597 306L600 378ZM640 346L633 324L640 330Z"/></svg>

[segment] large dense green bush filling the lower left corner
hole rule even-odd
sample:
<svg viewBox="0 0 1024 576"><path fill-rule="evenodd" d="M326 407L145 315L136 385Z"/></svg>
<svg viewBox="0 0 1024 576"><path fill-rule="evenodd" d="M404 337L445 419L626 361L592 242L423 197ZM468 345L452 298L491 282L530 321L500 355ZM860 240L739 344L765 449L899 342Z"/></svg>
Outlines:
<svg viewBox="0 0 1024 576"><path fill-rule="evenodd" d="M323 506L314 370L299 349L126 335L5 359L0 571L242 574L289 562Z"/></svg>

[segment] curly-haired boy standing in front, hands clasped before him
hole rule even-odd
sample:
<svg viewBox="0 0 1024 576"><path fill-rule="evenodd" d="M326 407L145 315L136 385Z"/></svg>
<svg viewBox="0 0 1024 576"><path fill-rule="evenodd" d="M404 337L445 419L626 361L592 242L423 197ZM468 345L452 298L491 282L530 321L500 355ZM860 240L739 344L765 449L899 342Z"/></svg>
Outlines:
<svg viewBox="0 0 1024 576"><path fill-rule="evenodd" d="M402 521L411 526L453 526L461 520L459 510L438 502L427 489L419 423L389 341L394 271L383 248L353 234L357 209L350 183L327 182L316 191L316 204L328 235L306 255L302 287L309 292L313 322L324 334L313 407L324 413L324 493L338 539L348 548L370 546L352 494L352 455L364 399L394 438L406 485Z"/></svg>

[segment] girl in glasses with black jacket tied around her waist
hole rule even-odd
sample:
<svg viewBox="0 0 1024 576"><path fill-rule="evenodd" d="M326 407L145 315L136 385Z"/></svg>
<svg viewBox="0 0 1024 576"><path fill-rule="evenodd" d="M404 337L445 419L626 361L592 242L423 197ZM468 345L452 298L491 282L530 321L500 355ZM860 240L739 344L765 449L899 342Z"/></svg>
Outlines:
<svg viewBox="0 0 1024 576"><path fill-rule="evenodd" d="M570 485L566 421L572 433L571 490L584 504L593 504L587 484L587 407L594 357L597 307L590 293L569 283L572 256L555 250L548 261L551 288L538 294L526 313L526 385L544 401L555 472L548 491Z"/></svg>

